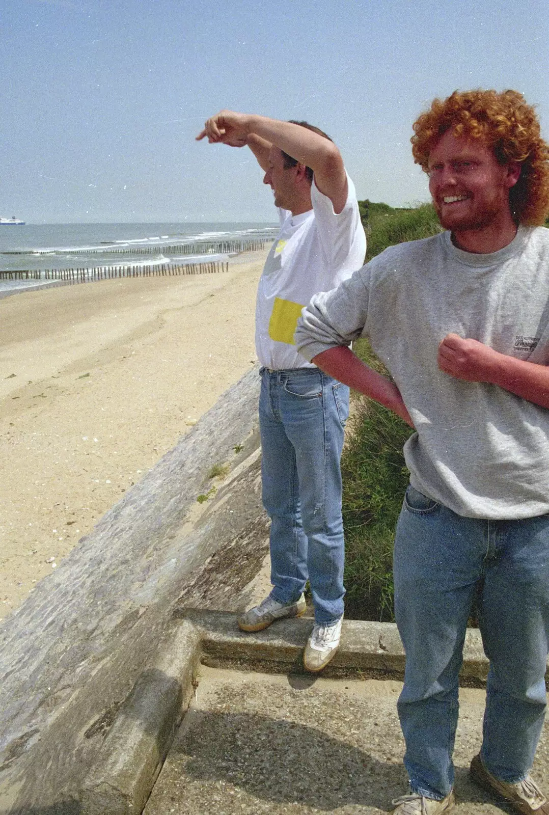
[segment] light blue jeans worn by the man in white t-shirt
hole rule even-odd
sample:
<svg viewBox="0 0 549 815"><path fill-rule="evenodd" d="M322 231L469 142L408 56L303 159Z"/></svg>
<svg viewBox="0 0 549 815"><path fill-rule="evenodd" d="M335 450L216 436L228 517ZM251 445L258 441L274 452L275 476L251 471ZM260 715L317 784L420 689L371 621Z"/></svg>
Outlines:
<svg viewBox="0 0 549 815"><path fill-rule="evenodd" d="M314 619L343 614L340 457L349 388L319 368L261 368L263 505L270 516L270 594L296 601L307 579Z"/></svg>

